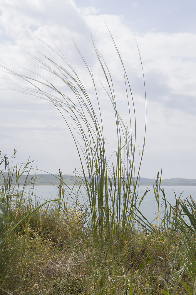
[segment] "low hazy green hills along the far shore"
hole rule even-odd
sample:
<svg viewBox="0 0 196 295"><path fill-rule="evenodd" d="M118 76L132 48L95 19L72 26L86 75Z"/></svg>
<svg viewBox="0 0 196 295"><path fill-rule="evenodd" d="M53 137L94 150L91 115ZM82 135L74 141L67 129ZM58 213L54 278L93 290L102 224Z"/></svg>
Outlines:
<svg viewBox="0 0 196 295"><path fill-rule="evenodd" d="M26 180L27 175L22 175L19 179L19 184L23 185ZM51 174L39 174L36 176L36 179L34 179L34 175L28 176L28 182L29 183L35 183L35 185L59 185L60 180L57 174L51 175ZM80 180L81 178L77 178L77 180ZM76 182L76 177L73 175L63 175L63 181L66 185L73 185ZM3 179L0 179L0 184L3 183ZM143 178L140 177L140 185L153 185L155 184L154 179L152 178ZM162 186L170 186L170 185L176 185L176 186L196 186L196 179L186 179L186 178L171 178L171 179L162 179L161 180Z"/></svg>

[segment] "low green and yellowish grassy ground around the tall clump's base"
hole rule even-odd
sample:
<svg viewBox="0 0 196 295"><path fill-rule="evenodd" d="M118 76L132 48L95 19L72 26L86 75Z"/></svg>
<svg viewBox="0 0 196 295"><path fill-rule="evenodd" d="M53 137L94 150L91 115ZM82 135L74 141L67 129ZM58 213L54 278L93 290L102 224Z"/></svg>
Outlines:
<svg viewBox="0 0 196 295"><path fill-rule="evenodd" d="M11 194L9 183L2 189ZM155 193L158 203L165 198L158 185ZM9 196L10 230L38 204L20 191ZM93 238L88 208L64 207L61 188L60 202L39 208L1 246L2 294L195 294L196 217L190 225L181 219L195 216L194 206L178 200L173 214L148 227L133 215L126 239L103 245Z"/></svg>

